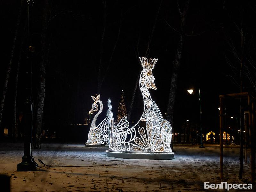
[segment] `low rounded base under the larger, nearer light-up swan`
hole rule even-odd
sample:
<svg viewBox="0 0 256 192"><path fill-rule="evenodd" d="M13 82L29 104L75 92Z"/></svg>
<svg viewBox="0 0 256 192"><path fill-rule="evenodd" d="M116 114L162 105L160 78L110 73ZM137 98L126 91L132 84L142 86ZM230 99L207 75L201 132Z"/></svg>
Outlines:
<svg viewBox="0 0 256 192"><path fill-rule="evenodd" d="M127 152L106 150L107 156L118 157L123 159L174 159L174 152Z"/></svg>

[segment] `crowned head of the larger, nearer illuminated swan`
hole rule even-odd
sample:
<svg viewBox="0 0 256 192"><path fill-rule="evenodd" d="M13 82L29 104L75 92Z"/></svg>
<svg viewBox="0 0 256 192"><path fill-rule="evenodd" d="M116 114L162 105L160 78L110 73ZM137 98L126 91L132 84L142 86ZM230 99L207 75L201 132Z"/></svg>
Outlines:
<svg viewBox="0 0 256 192"><path fill-rule="evenodd" d="M157 60L158 59L150 58L148 62L146 57L142 57L142 59L140 58L141 65L143 67L142 73L145 77L144 83L148 89L157 89L154 82L155 78L152 73L152 69L155 67Z"/></svg>

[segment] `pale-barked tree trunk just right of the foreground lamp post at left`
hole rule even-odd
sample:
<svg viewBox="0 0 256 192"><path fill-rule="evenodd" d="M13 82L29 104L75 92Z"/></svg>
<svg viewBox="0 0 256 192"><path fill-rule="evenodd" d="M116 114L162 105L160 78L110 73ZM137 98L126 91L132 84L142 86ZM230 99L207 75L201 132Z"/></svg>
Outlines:
<svg viewBox="0 0 256 192"><path fill-rule="evenodd" d="M39 71L39 87L36 101L36 123L34 128L34 135L36 139L33 143L33 149L41 149L40 140L42 138L42 120L44 110L44 95L45 95L45 68L48 62L50 43L47 39L47 21L50 14L49 0L45 0L44 20L43 20L43 33L42 33L42 49L41 49L41 62Z"/></svg>

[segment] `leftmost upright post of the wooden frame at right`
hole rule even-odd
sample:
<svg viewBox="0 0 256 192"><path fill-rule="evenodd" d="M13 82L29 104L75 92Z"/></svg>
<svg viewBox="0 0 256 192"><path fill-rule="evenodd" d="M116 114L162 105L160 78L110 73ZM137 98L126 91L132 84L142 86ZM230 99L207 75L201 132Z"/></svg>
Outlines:
<svg viewBox="0 0 256 192"><path fill-rule="evenodd" d="M223 97L220 95L220 179L223 179Z"/></svg>

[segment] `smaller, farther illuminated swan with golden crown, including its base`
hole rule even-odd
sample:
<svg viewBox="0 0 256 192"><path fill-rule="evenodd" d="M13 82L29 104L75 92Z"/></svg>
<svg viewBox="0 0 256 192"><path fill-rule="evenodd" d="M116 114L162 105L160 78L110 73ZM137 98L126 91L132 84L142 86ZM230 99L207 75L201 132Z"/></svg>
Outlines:
<svg viewBox="0 0 256 192"><path fill-rule="evenodd" d="M106 117L97 127L96 127L96 120L100 115L103 104L100 100L100 94L96 95L96 97L92 96L94 103L92 104L92 109L89 111L89 114L95 111L98 111L98 105L100 104L100 110L92 119L92 124L90 127L90 131L88 133L88 140L85 143L86 147L108 147L108 117Z"/></svg>

